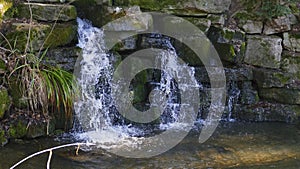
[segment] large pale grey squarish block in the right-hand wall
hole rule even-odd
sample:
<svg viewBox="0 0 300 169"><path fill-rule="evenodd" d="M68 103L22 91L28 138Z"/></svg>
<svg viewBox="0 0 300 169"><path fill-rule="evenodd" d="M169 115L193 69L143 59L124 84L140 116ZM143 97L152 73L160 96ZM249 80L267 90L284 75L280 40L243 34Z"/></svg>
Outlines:
<svg viewBox="0 0 300 169"><path fill-rule="evenodd" d="M279 68L282 53L282 39L277 36L249 35L245 62L266 68Z"/></svg>

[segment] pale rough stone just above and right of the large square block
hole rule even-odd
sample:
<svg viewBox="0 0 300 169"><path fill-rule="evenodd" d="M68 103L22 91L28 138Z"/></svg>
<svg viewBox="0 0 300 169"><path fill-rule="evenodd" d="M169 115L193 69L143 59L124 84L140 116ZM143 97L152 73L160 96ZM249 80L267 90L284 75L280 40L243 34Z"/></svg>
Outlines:
<svg viewBox="0 0 300 169"><path fill-rule="evenodd" d="M280 16L278 18L269 20L266 22L264 26L263 33L266 35L287 32L291 30L291 25L295 23L295 16L294 15L286 15Z"/></svg>

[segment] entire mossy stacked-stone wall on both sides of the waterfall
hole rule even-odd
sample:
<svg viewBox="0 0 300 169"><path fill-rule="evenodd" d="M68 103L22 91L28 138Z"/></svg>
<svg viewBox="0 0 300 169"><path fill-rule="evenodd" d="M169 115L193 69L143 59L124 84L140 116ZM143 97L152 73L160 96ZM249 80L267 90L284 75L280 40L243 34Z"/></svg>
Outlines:
<svg viewBox="0 0 300 169"><path fill-rule="evenodd" d="M16 48L24 50L30 28L32 32L30 49L33 51L48 49L45 58L48 64L73 70L76 58L80 54L80 49L76 47L77 16L89 19L93 25L101 27L111 20L140 10L165 12L183 17L199 27L217 49L227 78L227 107L224 118L296 122L300 116L299 2L289 4L281 2L280 5L289 10L279 12L278 16L276 14L268 16L264 11L261 15L257 15L257 11L251 11L258 9L257 6L252 8L251 4L242 0L72 2L31 0L30 2L29 4L27 1L18 1L6 11L1 32L11 44L16 44ZM31 16L34 24L29 27L28 19ZM152 26L151 16L145 16L136 18L134 23L121 23L114 33L140 32ZM165 37L132 36L116 45L114 52L125 57L134 51L153 47L154 44L149 44L149 41L159 44L163 38ZM180 57L185 58L190 65L196 66L197 79L206 84L209 81L205 76L206 71L202 63L194 59L190 49L176 41L173 46L176 47ZM5 63L5 59L0 59L0 76L3 76L7 69ZM146 73L144 76L149 75ZM144 84L151 78L138 79L140 80L136 81L137 84ZM2 80L0 82L3 83ZM139 89L145 88L142 86ZM143 101L146 96L139 92L136 92L138 96L136 99ZM11 115L8 113L11 107L22 108L20 103L23 98L14 93L6 86L0 87L0 119L5 114ZM204 98L200 116L205 116L208 104L209 101ZM228 117L229 112L231 117ZM20 127L22 124L15 125ZM39 132L40 134L35 133L31 136L45 134L45 130Z"/></svg>

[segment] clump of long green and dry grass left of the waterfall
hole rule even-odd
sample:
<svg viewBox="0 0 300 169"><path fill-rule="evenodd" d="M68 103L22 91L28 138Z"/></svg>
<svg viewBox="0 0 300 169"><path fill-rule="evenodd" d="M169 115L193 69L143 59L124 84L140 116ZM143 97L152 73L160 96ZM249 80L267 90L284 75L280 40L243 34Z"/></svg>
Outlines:
<svg viewBox="0 0 300 169"><path fill-rule="evenodd" d="M48 49L42 49L51 35L56 22L53 24L46 39L44 39L40 50L34 51L31 44L33 20L30 6L29 11L31 17L28 21L29 29L25 47L22 47L22 49L17 48L17 37L12 44L0 32L0 36L5 42L0 43L0 54L2 54L2 57L5 57L2 59L7 64L7 85L10 85L10 81L18 85L22 97L26 98L28 107L32 112L41 113L48 118L50 112L54 113L63 109L66 120L71 119L73 101L78 92L75 78L72 73L43 62Z"/></svg>

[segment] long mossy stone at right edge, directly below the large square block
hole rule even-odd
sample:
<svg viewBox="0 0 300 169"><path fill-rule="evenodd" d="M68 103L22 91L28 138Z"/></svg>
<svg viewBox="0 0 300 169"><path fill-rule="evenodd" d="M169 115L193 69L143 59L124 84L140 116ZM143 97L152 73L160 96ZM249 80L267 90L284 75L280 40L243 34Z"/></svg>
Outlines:
<svg viewBox="0 0 300 169"><path fill-rule="evenodd" d="M253 76L260 88L293 88L300 89L300 77L298 74L287 73L280 70L264 68L253 69Z"/></svg>

